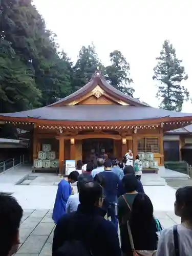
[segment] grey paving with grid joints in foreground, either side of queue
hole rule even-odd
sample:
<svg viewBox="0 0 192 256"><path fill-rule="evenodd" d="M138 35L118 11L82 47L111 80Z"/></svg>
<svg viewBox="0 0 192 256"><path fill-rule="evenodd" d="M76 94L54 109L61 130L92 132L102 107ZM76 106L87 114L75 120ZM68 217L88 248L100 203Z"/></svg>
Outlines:
<svg viewBox="0 0 192 256"><path fill-rule="evenodd" d="M180 223L174 212L156 211L164 228ZM16 256L51 256L54 222L52 210L24 210L20 225L20 246Z"/></svg>

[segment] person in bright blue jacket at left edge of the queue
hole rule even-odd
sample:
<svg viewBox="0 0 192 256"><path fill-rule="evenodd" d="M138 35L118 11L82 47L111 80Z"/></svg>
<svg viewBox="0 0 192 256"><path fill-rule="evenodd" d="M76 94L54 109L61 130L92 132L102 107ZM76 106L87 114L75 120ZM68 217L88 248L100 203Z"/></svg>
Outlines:
<svg viewBox="0 0 192 256"><path fill-rule="evenodd" d="M77 181L79 173L77 170L71 172L68 176L68 181L62 179L58 184L57 194L55 198L55 204L53 208L52 219L55 224L59 221L60 217L66 213L66 204L69 196L71 196L72 189L70 183Z"/></svg>

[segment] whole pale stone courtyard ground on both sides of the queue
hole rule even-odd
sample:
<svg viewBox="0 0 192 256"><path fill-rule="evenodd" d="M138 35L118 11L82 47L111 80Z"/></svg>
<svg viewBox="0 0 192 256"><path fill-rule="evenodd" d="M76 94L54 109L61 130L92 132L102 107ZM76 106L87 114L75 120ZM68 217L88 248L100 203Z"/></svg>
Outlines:
<svg viewBox="0 0 192 256"><path fill-rule="evenodd" d="M164 228L180 223L174 214L174 188L191 184L191 180L172 170L162 169L159 175L143 175L144 191L154 206L154 216ZM28 185L15 185L25 177ZM159 177L159 178L158 178ZM165 180L162 182L163 178ZM157 179L158 178L158 182ZM51 256L54 222L52 210L60 178L55 174L32 174L30 166L20 166L0 175L0 191L12 193L23 207L24 216L20 225L20 246L16 256ZM145 184L146 182L146 184ZM149 184L150 183L150 184ZM153 183L153 184L152 184ZM77 187L73 186L76 193Z"/></svg>

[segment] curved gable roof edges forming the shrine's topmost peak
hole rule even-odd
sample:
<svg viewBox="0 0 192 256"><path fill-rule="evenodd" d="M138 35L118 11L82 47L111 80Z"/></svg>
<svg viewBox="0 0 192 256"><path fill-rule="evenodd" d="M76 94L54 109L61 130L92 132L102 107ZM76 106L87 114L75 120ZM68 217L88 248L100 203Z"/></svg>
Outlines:
<svg viewBox="0 0 192 256"><path fill-rule="evenodd" d="M128 95L125 95L124 93L117 90L115 87L111 86L111 84L108 83L104 79L104 77L101 75L99 71L96 71L95 74L92 76L91 80L82 88L77 90L76 92L70 94L69 96L58 100L57 102L49 105L49 106L57 106L63 103L63 105L68 105L70 102L77 100L81 96L85 95L86 93L92 91L97 85L100 86L102 90L105 92L119 98L119 100L122 100L126 102L129 105L132 106L148 106L148 104L141 102L138 99L132 98Z"/></svg>

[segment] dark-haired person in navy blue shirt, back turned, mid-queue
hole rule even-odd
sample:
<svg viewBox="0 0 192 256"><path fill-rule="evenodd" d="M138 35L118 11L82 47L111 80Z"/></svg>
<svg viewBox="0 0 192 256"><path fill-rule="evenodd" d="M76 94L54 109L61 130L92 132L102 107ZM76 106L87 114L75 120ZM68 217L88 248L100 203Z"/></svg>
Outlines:
<svg viewBox="0 0 192 256"><path fill-rule="evenodd" d="M116 230L118 229L117 222L117 196L118 186L120 183L119 177L111 170L111 160L104 161L104 172L100 173L104 177L104 202L103 209L108 213L108 217L111 217L111 221L114 223Z"/></svg>

